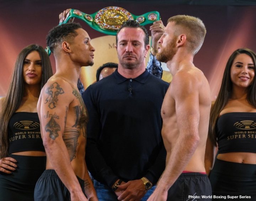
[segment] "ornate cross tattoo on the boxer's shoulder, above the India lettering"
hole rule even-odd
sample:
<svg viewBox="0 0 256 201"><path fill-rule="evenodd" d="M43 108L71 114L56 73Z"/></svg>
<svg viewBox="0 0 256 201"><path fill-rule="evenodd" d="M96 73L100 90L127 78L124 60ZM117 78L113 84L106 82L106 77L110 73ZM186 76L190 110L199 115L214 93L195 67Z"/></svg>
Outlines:
<svg viewBox="0 0 256 201"><path fill-rule="evenodd" d="M45 104L48 103L48 107L53 109L58 102L58 95L63 94L64 91L57 82L54 82L46 89L46 93L48 94L48 97L46 98Z"/></svg>

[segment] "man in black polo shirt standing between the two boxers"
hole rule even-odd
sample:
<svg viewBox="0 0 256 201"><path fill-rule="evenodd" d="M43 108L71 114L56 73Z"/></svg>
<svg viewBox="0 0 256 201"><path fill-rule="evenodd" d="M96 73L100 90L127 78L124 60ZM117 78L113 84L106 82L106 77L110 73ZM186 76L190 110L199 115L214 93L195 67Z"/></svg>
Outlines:
<svg viewBox="0 0 256 201"><path fill-rule="evenodd" d="M147 200L165 168L160 111L169 84L146 70L143 26L126 21L116 39L117 70L83 94L86 164L99 200Z"/></svg>

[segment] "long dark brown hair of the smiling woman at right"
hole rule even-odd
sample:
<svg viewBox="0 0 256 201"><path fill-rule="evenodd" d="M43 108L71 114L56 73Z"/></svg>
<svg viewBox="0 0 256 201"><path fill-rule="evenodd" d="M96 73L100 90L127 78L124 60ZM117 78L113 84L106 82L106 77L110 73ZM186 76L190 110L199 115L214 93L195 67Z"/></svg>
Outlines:
<svg viewBox="0 0 256 201"><path fill-rule="evenodd" d="M230 69L234 62L234 59L239 54L247 54L252 58L252 61L254 63L254 67L256 68L256 54L254 51L247 49L247 48L241 48L236 51L234 51L231 56L228 59L228 62L226 64L226 68L224 70L224 75L222 79L222 84L220 86L220 91L218 94L218 97L211 108L210 111L210 122L209 122L209 137L210 140L214 145L217 144L217 137L215 132L215 125L217 122L217 119L219 117L220 112L223 110L225 105L228 103L228 100L230 99L232 95L232 86L233 83L231 81L230 77ZM254 71L256 70L254 68ZM256 74L256 73L255 73ZM247 101L249 104L251 104L254 108L256 108L256 81L255 78L252 80L252 84L247 88Z"/></svg>

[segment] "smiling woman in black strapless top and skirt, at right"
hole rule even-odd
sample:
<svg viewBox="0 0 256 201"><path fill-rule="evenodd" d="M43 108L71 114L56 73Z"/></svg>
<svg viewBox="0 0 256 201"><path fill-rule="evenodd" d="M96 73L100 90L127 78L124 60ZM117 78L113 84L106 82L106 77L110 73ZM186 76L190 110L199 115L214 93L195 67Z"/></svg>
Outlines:
<svg viewBox="0 0 256 201"><path fill-rule="evenodd" d="M249 49L231 54L210 112L205 166L216 200L256 200L255 63Z"/></svg>

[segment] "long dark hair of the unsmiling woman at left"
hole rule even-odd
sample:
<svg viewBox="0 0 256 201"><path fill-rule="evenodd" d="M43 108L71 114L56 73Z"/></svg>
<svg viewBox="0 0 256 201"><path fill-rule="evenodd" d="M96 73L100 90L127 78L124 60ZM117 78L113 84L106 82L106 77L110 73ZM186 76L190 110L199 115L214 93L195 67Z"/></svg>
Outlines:
<svg viewBox="0 0 256 201"><path fill-rule="evenodd" d="M8 124L12 114L20 107L24 96L23 62L32 51L37 51L42 60L41 89L52 76L50 59L43 47L32 44L25 47L20 54L18 54L11 77L11 83L2 103L2 111L0 114L0 159L8 156Z"/></svg>

